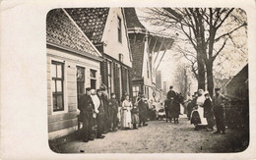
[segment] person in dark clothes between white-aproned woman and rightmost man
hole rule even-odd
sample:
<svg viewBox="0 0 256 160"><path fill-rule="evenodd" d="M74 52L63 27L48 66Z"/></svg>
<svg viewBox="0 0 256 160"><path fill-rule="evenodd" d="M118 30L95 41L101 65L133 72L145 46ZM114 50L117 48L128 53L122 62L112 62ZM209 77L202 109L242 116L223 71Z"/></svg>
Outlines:
<svg viewBox="0 0 256 160"><path fill-rule="evenodd" d="M210 99L209 93L205 94L206 100L203 104L204 108L204 118L207 120L207 131L213 132L214 131L214 112L213 112L213 105Z"/></svg>

